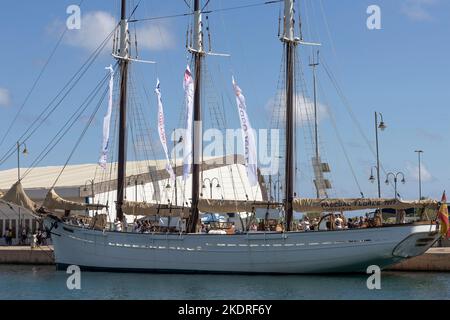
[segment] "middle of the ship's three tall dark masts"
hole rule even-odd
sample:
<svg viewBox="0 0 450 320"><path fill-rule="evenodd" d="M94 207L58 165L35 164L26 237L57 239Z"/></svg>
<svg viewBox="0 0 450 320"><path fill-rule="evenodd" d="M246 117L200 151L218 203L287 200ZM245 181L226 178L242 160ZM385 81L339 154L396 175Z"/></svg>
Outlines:
<svg viewBox="0 0 450 320"><path fill-rule="evenodd" d="M194 91L194 139L192 139L192 204L191 216L187 232L195 233L199 219L198 202L200 197L200 166L202 154L202 109L201 84L203 50L203 22L200 0L194 1L194 43L191 53L195 63L195 91Z"/></svg>

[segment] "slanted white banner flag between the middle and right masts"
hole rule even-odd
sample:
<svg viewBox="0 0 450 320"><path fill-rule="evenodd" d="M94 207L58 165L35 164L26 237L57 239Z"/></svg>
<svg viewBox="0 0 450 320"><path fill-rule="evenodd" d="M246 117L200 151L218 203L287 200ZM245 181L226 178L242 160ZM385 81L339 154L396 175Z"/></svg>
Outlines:
<svg viewBox="0 0 450 320"><path fill-rule="evenodd" d="M233 87L236 93L236 102L238 107L239 120L241 121L242 140L244 144L244 158L247 167L247 175L250 185L256 186L258 184L258 167L256 158L256 140L253 128L250 124L247 114L247 105L245 97L242 94L241 88L236 84L233 77Z"/></svg>

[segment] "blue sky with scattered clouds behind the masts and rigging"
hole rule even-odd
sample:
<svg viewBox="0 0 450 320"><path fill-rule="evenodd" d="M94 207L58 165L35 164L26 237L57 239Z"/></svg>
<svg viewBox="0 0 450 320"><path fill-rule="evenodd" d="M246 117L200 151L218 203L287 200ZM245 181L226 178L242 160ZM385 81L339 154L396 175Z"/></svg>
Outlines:
<svg viewBox="0 0 450 320"><path fill-rule="evenodd" d="M257 0L212 0L210 9L260 3ZM0 12L3 50L0 52L0 130L2 137L14 118L34 79L55 45L68 15L66 8L75 0L7 1ZM324 12L322 12L321 3ZM382 29L368 30L366 10L376 4L381 8ZM381 160L387 171L401 170L407 184L399 187L404 198L416 198L416 149L423 149L424 195L439 198L450 183L448 158L450 111L450 3L445 0L304 0L301 1L304 35L323 44L321 56L339 80L345 96L364 134L374 144L373 113L383 113L388 129L380 134ZM231 87L231 75L244 90L249 116L255 128L266 128L271 113L268 104L277 90L282 47L277 39L278 4L253 9L214 13L209 17L212 47L231 58L208 58L214 75L218 99L223 95L230 127L239 126ZM165 16L187 12L182 0L143 0L137 17ZM0 146L4 153L24 129L43 110L56 92L77 70L96 43L103 40L108 27L118 15L118 1L85 0L82 6L82 30L69 31L58 48L17 124ZM326 19L324 19L326 17ZM153 91L156 77L162 82L167 131L179 125L183 110L182 76L187 63L185 34L188 18L139 23L141 57L158 62L157 66L139 66L148 91ZM328 29L328 27L329 29ZM300 48L303 60L311 51ZM89 89L104 75L104 67L113 63L106 50L91 67L83 82L62 105L61 110L27 141L31 163L67 115L75 110ZM311 72L304 68L311 92ZM375 157L357 125L352 121L323 68L319 68L323 89L319 101L336 118L339 133L350 155L358 181L366 196L376 195L376 185L368 182ZM143 101L145 103L145 101ZM71 163L96 162L101 148L100 110L82 147ZM154 111L154 113L151 113ZM155 99L151 97L149 117L156 117ZM150 123L155 123L153 119ZM63 164L84 123L49 154L41 165ZM333 185L338 196L358 196L351 171L336 139L330 116L320 123L324 156L332 167ZM302 150L299 151L301 153ZM305 162L306 160L300 160ZM306 166L305 163L303 163ZM11 158L1 169L15 167ZM300 166L302 168L302 164ZM302 170L302 169L301 169ZM384 180L384 174L382 175ZM312 195L312 186L299 183L300 194ZM382 185L383 194L393 191Z"/></svg>

